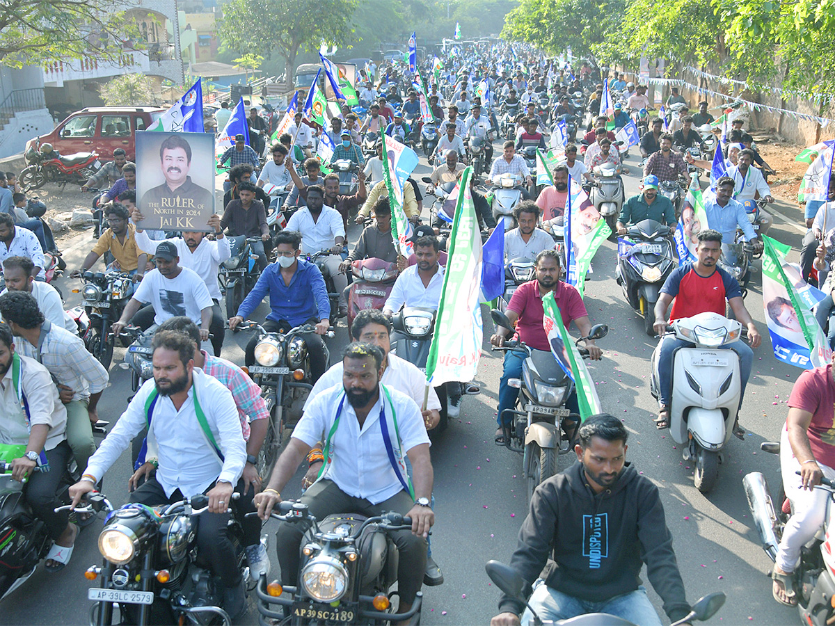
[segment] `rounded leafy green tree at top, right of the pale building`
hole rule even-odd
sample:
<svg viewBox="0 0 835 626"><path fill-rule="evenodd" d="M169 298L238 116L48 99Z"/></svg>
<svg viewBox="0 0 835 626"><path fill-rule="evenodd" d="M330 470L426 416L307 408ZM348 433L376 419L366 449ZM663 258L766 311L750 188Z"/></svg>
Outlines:
<svg viewBox="0 0 835 626"><path fill-rule="evenodd" d="M227 48L241 54L266 49L284 61L288 76L300 50L322 42L342 47L353 33L357 0L230 0L217 32Z"/></svg>

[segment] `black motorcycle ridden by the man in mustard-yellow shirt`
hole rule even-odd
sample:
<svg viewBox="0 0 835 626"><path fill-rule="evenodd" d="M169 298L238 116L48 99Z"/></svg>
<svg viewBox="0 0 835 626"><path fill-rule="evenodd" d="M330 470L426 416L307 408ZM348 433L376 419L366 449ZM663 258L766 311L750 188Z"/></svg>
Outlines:
<svg viewBox="0 0 835 626"><path fill-rule="evenodd" d="M82 305L87 311L90 324L83 336L84 346L104 366L110 367L113 360L114 338L110 326L119 320L130 296L134 293L134 282L127 272L86 271L81 276L84 286L80 290Z"/></svg>

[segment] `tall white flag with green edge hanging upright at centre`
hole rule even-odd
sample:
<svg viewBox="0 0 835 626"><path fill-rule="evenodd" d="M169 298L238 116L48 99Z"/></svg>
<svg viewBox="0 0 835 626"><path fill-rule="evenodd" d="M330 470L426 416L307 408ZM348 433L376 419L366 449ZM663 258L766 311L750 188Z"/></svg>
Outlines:
<svg viewBox="0 0 835 626"><path fill-rule="evenodd" d="M483 331L478 295L482 247L470 192L472 175L473 168L468 167L461 176L435 333L426 362L427 386L473 380L481 356Z"/></svg>

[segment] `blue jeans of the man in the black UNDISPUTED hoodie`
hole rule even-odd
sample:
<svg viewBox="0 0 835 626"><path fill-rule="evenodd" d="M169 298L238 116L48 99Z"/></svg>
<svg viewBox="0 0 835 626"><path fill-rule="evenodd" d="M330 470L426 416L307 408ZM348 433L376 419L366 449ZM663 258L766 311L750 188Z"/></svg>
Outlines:
<svg viewBox="0 0 835 626"><path fill-rule="evenodd" d="M534 593L528 603L540 619L570 619L586 613L609 613L638 626L661 626L661 620L641 586L636 591L624 593L615 598L590 602L562 593L545 584L542 578L534 583ZM533 615L526 608L522 615L522 626L528 626Z"/></svg>

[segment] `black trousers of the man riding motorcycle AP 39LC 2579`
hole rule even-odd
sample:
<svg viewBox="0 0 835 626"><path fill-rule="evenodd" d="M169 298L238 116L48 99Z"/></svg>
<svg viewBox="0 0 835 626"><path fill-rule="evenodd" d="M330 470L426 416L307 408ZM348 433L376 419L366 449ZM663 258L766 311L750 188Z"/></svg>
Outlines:
<svg viewBox="0 0 835 626"><path fill-rule="evenodd" d="M211 487L215 485L212 484ZM211 488L209 487L209 488ZM206 489L209 491L209 489ZM151 507L160 504L171 504L183 499L180 489L175 489L171 497L165 496L162 485L156 477L149 478L136 491L130 494L130 502L139 502ZM229 523L229 513L200 513L195 517L197 523L197 550L200 559L205 561L223 580L224 587L236 587L240 584L240 570L235 559L235 548L232 547L226 525Z"/></svg>

